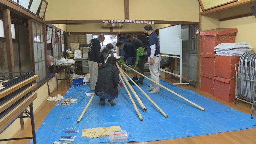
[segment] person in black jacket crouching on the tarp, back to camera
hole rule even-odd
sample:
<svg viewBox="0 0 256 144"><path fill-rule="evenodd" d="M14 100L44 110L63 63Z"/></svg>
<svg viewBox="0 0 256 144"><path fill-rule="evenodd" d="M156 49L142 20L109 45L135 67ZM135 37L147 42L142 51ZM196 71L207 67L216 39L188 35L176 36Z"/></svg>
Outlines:
<svg viewBox="0 0 256 144"><path fill-rule="evenodd" d="M116 58L110 56L107 59L107 63L102 64L99 67L95 93L101 98L100 103L102 105L105 104L105 99L108 99L108 102L110 102L111 105L116 105L113 100L121 90L118 69L115 66L116 62Z"/></svg>

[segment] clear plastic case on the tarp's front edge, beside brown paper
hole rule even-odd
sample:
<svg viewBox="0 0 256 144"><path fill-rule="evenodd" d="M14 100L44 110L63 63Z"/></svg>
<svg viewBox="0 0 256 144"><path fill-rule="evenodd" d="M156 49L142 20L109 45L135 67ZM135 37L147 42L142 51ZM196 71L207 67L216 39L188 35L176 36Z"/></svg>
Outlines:
<svg viewBox="0 0 256 144"><path fill-rule="evenodd" d="M128 135L126 130L119 130L114 132L109 132L109 140L110 142L124 142L128 141Z"/></svg>

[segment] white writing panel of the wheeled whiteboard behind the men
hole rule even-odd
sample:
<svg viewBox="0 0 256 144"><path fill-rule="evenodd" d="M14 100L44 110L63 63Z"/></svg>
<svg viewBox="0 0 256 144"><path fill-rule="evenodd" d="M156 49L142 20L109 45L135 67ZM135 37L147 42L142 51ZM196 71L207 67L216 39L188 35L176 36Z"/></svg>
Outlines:
<svg viewBox="0 0 256 144"><path fill-rule="evenodd" d="M181 55L181 25L166 27L159 30L160 53Z"/></svg>

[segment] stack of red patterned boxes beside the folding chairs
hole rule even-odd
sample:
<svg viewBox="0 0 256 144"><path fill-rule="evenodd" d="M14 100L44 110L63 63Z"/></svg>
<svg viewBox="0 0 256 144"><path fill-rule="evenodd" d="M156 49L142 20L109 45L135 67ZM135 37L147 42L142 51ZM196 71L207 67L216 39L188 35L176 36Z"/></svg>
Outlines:
<svg viewBox="0 0 256 144"><path fill-rule="evenodd" d="M226 78L228 80L235 77L233 64L239 62L239 58L215 56L214 47L221 43L234 43L237 31L237 29L213 29L200 33L201 91L208 92L214 96L216 95L219 99L225 99L226 102L233 101L231 100L233 98L227 97L227 95L232 95L232 92L235 92L233 89L230 90L230 87L233 85L219 81L218 78L216 80L215 77ZM230 82L233 83L233 81Z"/></svg>

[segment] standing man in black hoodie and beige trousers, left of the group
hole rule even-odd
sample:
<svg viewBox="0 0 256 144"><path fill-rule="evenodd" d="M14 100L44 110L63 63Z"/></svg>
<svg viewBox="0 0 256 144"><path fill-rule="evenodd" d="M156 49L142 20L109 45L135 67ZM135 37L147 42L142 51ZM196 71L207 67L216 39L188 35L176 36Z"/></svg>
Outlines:
<svg viewBox="0 0 256 144"><path fill-rule="evenodd" d="M91 39L88 52L88 66L90 73L90 89L94 91L95 84L98 78L99 66L101 66L101 59L99 53L101 51L101 43L105 40L104 35L99 35L98 38Z"/></svg>

